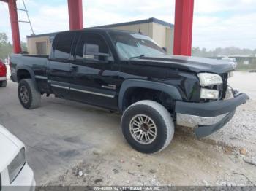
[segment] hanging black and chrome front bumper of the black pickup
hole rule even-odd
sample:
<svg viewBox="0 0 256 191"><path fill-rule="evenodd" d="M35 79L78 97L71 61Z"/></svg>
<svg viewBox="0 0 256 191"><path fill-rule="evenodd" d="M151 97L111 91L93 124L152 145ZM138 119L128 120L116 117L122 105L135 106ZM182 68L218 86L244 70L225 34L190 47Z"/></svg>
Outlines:
<svg viewBox="0 0 256 191"><path fill-rule="evenodd" d="M209 103L176 101L176 124L194 128L197 138L214 133L232 119L237 106L249 99L244 93L227 96L224 100Z"/></svg>

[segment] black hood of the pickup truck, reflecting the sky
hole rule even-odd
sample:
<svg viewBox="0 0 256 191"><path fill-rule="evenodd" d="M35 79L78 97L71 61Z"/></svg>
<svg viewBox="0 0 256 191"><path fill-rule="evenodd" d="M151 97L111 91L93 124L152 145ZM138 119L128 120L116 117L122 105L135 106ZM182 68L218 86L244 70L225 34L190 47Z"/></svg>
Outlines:
<svg viewBox="0 0 256 191"><path fill-rule="evenodd" d="M209 58L198 58L177 55L145 56L129 61L132 64L144 66L166 67L170 69L181 69L184 71L194 71L195 73L210 72L223 74L233 71L236 65L230 61L221 61Z"/></svg>

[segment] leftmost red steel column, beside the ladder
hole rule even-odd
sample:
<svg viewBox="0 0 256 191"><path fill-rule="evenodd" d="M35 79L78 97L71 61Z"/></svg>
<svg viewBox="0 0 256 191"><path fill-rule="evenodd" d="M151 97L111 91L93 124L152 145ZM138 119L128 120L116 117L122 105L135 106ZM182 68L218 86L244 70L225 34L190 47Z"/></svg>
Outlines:
<svg viewBox="0 0 256 191"><path fill-rule="evenodd" d="M15 54L21 52L20 46L20 29L18 23L17 5L16 0L8 1L11 28L12 28L12 42L13 42L13 52Z"/></svg>

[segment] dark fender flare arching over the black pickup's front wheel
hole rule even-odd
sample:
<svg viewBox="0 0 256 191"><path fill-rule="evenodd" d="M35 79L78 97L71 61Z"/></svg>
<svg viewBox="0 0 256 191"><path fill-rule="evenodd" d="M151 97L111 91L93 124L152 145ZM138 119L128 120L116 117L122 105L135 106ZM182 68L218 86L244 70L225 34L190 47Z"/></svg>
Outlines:
<svg viewBox="0 0 256 191"><path fill-rule="evenodd" d="M170 95L174 100L182 100L181 94L178 92L178 89L173 85L167 85L160 82L151 82L141 79L127 79L125 80L120 88L118 96L118 109L123 112L124 110L124 95L127 90L131 87L143 87L151 90L159 90Z"/></svg>

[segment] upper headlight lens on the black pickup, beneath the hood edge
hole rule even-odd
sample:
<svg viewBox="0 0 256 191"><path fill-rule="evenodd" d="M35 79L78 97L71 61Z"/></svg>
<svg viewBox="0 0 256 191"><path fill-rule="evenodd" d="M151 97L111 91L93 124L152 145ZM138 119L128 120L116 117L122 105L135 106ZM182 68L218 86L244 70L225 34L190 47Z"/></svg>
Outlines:
<svg viewBox="0 0 256 191"><path fill-rule="evenodd" d="M201 86L221 85L223 83L222 77L218 74L200 73L197 74Z"/></svg>

